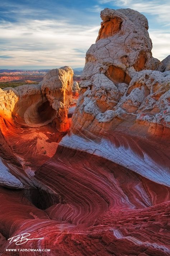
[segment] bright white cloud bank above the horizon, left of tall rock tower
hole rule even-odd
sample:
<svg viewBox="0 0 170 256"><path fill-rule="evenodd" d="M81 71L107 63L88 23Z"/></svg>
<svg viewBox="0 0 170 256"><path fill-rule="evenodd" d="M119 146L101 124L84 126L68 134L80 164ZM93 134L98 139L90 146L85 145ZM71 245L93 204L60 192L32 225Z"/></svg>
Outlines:
<svg viewBox="0 0 170 256"><path fill-rule="evenodd" d="M2 55L0 66L83 67L85 53L95 43L99 26L80 26L57 20L3 22L0 26ZM4 47L5 42L5 47Z"/></svg>

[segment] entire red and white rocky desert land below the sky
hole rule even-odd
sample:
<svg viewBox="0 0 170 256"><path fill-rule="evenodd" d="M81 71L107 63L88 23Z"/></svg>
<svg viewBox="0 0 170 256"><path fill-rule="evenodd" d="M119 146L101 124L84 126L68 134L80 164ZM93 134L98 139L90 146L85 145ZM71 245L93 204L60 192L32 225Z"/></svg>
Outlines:
<svg viewBox="0 0 170 256"><path fill-rule="evenodd" d="M0 71L2 256L170 255L170 55L136 10L100 17L83 71Z"/></svg>

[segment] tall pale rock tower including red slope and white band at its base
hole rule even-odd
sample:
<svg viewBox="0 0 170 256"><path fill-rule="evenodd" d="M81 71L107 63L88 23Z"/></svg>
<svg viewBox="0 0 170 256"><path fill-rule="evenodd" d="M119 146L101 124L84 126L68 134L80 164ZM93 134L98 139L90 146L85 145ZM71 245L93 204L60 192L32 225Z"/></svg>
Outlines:
<svg viewBox="0 0 170 256"><path fill-rule="evenodd" d="M101 19L96 43L86 53L71 132L61 145L169 185L169 57L162 63L152 57L144 15L107 8Z"/></svg>

